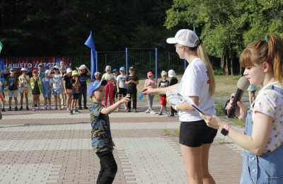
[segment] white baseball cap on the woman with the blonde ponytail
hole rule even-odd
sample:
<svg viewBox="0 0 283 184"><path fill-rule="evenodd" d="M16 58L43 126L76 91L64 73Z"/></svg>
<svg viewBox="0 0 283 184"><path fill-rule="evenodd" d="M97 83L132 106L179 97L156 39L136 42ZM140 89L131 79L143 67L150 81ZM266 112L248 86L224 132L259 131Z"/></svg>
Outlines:
<svg viewBox="0 0 283 184"><path fill-rule="evenodd" d="M167 38L166 42L170 44L178 43L187 47L196 47L195 42L199 40L197 34L192 30L178 30L174 38Z"/></svg>

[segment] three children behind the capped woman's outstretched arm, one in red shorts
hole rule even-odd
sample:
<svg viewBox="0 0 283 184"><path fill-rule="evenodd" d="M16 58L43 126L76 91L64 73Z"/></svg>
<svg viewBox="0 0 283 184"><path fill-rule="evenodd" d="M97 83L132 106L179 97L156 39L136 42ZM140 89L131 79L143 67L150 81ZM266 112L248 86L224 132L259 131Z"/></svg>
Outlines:
<svg viewBox="0 0 283 184"><path fill-rule="evenodd" d="M161 71L161 77L162 80L159 82L158 84L158 88L166 88L168 86L173 86L174 84L178 84L178 79L175 77L175 71L173 69L168 71L168 76L171 77L171 81L169 82L168 80L166 80L167 78L167 72L166 71ZM149 71L147 72L147 78L145 83L144 83L144 87L150 87L150 88L156 88L157 87L157 81L156 79L154 79L154 74ZM153 105L153 101L154 101L154 95L146 95L147 98L147 102L149 104L149 109L147 109L144 113L151 113L151 114L155 114L152 105ZM175 114L177 113L177 111L175 109L173 109L171 107L171 113L169 113L169 111L166 108L166 94L163 95L159 95L160 101L161 101L161 109L158 113L158 115L163 115L162 111L165 110L166 114L168 115L168 117L175 117Z"/></svg>

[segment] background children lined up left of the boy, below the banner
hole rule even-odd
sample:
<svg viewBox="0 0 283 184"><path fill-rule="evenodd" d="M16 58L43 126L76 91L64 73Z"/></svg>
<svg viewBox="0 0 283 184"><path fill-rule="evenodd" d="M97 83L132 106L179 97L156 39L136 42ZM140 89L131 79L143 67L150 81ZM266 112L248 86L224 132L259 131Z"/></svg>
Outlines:
<svg viewBox="0 0 283 184"><path fill-rule="evenodd" d="M32 76L28 76L28 70L21 69L21 76L15 75L13 68L9 69L10 75L6 77L6 84L8 86L8 111L11 111L12 98L15 100L15 111L23 110L23 98L25 97L26 110L28 107L28 92L29 86L33 94L33 111L35 107L42 110L40 107L40 94L44 97L44 110L51 110L51 94L54 96L55 108L54 110L62 110L64 103L62 97L66 96L66 108L73 114L73 110L79 113L76 108L76 103L79 99L79 109L81 107L81 98L83 97L83 108L86 106L86 76L91 75L91 71L82 64L77 70L64 68L64 62L43 71L43 65L39 64L37 69L33 69ZM86 72L87 71L87 72ZM4 81L1 81L1 111L5 111L5 95L4 95ZM18 109L18 91L21 93L21 108ZM62 97L60 97L62 96Z"/></svg>

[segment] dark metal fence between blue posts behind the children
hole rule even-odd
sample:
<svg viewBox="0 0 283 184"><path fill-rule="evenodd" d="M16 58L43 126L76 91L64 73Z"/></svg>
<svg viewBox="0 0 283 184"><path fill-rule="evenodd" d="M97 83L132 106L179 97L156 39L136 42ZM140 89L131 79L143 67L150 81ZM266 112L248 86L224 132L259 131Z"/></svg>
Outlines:
<svg viewBox="0 0 283 184"><path fill-rule="evenodd" d="M73 57L72 66L79 67L81 64L86 64L91 67L90 56ZM98 71L104 73L104 69L110 65L112 69L120 69L126 67L126 52L98 52ZM183 73L185 70L184 59L180 59L175 52L158 52L157 54L158 76L161 71L174 69L176 73ZM156 69L156 52L128 52L128 67L134 67L135 74L139 77L146 76L148 71L155 74Z"/></svg>

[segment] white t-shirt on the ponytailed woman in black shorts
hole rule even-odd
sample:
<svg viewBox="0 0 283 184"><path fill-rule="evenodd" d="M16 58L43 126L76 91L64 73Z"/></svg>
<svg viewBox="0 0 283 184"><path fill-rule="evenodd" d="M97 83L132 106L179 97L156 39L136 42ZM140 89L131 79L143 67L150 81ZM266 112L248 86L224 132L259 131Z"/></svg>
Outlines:
<svg viewBox="0 0 283 184"><path fill-rule="evenodd" d="M193 59L187 66L185 74L180 81L180 91L184 96L198 96L199 107L211 115L215 115L214 96L209 95L209 76L207 67L202 59ZM202 120L197 110L180 110L181 122L192 122Z"/></svg>

